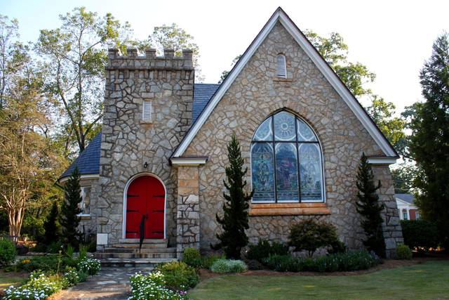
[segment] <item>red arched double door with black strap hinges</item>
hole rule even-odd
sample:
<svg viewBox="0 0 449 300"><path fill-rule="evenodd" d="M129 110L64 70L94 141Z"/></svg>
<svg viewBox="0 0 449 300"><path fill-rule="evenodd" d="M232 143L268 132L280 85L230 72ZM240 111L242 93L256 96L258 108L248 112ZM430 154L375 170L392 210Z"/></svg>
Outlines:
<svg viewBox="0 0 449 300"><path fill-rule="evenodd" d="M146 239L163 239L165 190L161 181L153 176L140 176L129 185L126 194L126 238L140 237L144 222Z"/></svg>

